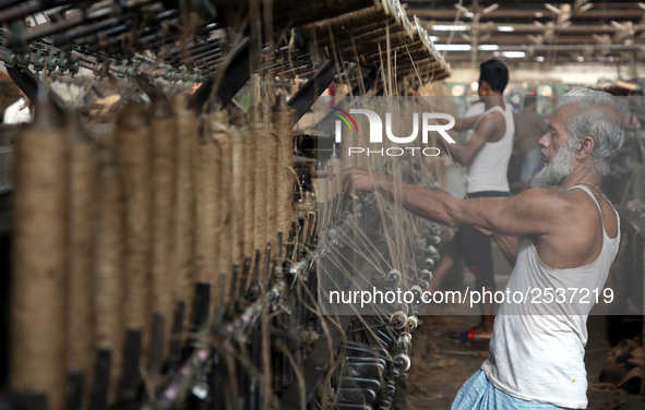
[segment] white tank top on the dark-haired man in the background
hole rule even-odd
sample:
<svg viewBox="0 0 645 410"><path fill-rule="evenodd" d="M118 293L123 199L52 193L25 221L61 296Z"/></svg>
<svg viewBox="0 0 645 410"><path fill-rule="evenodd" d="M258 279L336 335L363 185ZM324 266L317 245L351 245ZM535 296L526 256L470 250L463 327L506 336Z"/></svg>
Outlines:
<svg viewBox="0 0 645 410"><path fill-rule="evenodd" d="M485 111L475 123L473 129L479 125L481 119L493 112L500 111L504 116L506 130L500 141L486 143L481 150L475 156L470 166L468 166L468 177L466 178L466 192L501 191L509 192L509 160L513 153L513 136L515 135L515 123L513 121L513 111L509 104L506 109L500 106Z"/></svg>

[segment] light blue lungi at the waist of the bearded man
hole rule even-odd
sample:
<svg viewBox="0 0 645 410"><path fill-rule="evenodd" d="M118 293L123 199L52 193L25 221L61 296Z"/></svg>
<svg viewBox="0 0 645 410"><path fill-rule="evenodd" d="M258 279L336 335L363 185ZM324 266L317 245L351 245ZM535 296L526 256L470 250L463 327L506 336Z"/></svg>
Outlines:
<svg viewBox="0 0 645 410"><path fill-rule="evenodd" d="M526 401L494 387L478 370L459 389L451 410L563 410L563 407Z"/></svg>

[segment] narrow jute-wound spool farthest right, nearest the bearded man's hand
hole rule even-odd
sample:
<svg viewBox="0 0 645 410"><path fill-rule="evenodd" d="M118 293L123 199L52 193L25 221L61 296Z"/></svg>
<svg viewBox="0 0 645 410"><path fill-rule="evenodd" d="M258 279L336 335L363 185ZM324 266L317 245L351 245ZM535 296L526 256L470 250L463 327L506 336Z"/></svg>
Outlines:
<svg viewBox="0 0 645 410"><path fill-rule="evenodd" d="M283 232L283 248L286 252L287 238L291 229L291 204L294 192L294 111L287 106L287 98L280 94L273 109L274 131L278 142L277 169L277 231Z"/></svg>

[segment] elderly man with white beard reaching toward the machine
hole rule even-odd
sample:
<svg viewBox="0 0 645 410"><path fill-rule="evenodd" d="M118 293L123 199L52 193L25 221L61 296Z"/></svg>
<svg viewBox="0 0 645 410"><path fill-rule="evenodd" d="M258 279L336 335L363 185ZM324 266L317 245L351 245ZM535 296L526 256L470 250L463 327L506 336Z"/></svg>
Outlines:
<svg viewBox="0 0 645 410"><path fill-rule="evenodd" d="M585 303L572 289L602 291L618 252L619 216L600 185L623 142L623 107L607 93L573 89L560 98L549 130L539 140L547 165L513 197L459 200L367 170L345 173L353 196L380 191L425 218L490 231L514 264L507 289L531 297L539 290L537 299L501 303L489 358L453 410L587 406L584 347L594 298Z"/></svg>

